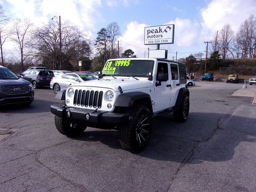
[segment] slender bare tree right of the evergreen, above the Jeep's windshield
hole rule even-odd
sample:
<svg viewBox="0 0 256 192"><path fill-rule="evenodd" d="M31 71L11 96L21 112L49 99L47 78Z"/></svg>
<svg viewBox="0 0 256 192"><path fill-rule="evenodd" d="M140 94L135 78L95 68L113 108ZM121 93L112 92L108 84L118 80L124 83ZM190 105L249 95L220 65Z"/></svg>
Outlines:
<svg viewBox="0 0 256 192"><path fill-rule="evenodd" d="M118 38L118 36L121 35L120 32L120 27L118 26L117 22L112 22L110 24L108 24L107 28L106 28L110 38L110 46L111 46L111 58L117 58L116 55L114 55L114 45L116 43L116 40Z"/></svg>

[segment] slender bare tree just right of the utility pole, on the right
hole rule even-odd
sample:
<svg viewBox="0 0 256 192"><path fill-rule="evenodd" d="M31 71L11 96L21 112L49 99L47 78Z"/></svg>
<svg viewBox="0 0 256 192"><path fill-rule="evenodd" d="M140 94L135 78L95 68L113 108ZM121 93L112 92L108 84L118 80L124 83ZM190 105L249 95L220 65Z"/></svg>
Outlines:
<svg viewBox="0 0 256 192"><path fill-rule="evenodd" d="M228 53L232 54L234 58L234 55L231 52L232 41L234 40L234 31L231 29L231 26L229 24L225 24L218 36L220 36L218 50L220 50L222 59L228 58Z"/></svg>

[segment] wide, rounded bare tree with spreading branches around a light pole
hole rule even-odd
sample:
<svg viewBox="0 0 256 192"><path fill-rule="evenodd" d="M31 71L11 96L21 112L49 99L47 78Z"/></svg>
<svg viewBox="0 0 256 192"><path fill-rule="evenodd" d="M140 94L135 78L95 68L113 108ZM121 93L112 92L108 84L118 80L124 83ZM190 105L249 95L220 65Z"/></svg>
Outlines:
<svg viewBox="0 0 256 192"><path fill-rule="evenodd" d="M61 36L60 36L61 27ZM53 70L61 69L61 62L69 64L71 60L78 58L78 54L84 50L85 35L78 27L70 25L68 21L61 24L58 20L52 20L48 24L34 31L34 48L36 56L48 62ZM60 41L61 47L60 47Z"/></svg>

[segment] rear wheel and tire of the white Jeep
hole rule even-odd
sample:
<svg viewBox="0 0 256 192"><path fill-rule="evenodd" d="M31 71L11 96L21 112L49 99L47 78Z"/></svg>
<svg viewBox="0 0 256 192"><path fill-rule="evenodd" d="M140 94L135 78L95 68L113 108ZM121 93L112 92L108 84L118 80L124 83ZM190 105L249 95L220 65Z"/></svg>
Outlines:
<svg viewBox="0 0 256 192"><path fill-rule="evenodd" d="M184 95L180 107L173 112L174 120L177 122L185 122L189 113L189 97Z"/></svg>

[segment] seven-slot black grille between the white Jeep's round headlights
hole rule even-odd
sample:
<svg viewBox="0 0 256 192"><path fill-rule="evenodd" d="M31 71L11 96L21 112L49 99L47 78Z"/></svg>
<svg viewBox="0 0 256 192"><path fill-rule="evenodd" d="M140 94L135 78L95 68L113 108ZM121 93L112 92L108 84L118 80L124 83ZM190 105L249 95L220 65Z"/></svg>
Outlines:
<svg viewBox="0 0 256 192"><path fill-rule="evenodd" d="M74 105L101 108L103 91L75 90Z"/></svg>

